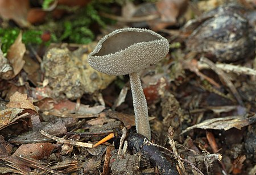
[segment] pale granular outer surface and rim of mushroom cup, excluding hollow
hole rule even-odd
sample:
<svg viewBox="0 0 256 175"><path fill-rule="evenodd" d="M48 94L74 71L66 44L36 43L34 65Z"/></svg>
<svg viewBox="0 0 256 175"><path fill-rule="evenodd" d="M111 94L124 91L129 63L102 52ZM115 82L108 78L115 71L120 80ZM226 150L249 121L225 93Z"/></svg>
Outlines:
<svg viewBox="0 0 256 175"><path fill-rule="evenodd" d="M114 53L97 55L97 53L101 51L103 47L103 43L109 37L114 36L115 34L119 34L120 32L123 32L123 31L125 32L132 31L132 32L138 32L138 33L147 32L148 34L155 36L155 38L152 38L152 40L148 40L148 41L142 40L142 41L135 42L133 44L128 45L125 49L119 49L119 51L115 51ZM105 45L104 48L105 47L107 46ZM140 49L142 49L141 50L142 52L141 53L137 52ZM139 72L139 70L145 69L150 65L155 64L156 62L162 60L167 55L168 51L169 51L168 40L154 31L141 29L141 28L121 28L119 30L111 32L108 35L105 35L104 38L102 38L98 42L96 48L94 48L94 50L91 53L89 53L88 62L93 69L96 69L99 72L119 76L119 75ZM126 53L127 55L125 56L126 57L125 58L124 55ZM144 53L146 53L146 55L144 55ZM117 62L114 61L114 57L117 58L117 62L119 62L118 60L123 60L121 62L126 62L126 60L129 62L131 60L133 64L129 66L127 66L127 64L122 64L121 70L120 69L118 70L119 66L116 64ZM135 61L136 59L134 58L136 57L138 58L138 61ZM150 57L151 59L148 59ZM138 63L139 60L142 62L142 64ZM112 67L108 65L116 65L116 66Z"/></svg>

